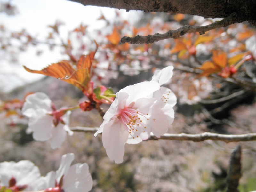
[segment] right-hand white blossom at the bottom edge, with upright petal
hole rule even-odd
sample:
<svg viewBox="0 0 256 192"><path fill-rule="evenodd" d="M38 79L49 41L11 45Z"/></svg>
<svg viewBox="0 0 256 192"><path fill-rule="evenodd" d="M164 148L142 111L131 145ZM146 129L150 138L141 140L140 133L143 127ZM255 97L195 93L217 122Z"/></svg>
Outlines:
<svg viewBox="0 0 256 192"><path fill-rule="evenodd" d="M92 189L92 176L86 163L74 164L74 154L62 156L59 169L49 172L45 177L38 178L32 184L33 191L45 192L88 192Z"/></svg>

